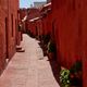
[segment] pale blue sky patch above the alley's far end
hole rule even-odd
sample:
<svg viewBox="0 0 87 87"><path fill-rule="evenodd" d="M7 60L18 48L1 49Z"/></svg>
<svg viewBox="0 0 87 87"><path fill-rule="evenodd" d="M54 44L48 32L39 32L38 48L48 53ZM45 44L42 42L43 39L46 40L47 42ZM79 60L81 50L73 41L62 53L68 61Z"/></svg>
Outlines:
<svg viewBox="0 0 87 87"><path fill-rule="evenodd" d="M20 0L20 8L28 8L34 1L46 1L46 0Z"/></svg>

